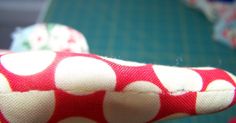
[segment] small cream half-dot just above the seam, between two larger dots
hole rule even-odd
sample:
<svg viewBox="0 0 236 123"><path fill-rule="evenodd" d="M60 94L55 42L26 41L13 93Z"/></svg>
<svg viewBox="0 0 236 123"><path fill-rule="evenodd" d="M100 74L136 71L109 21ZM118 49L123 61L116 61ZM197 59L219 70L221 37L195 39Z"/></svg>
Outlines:
<svg viewBox="0 0 236 123"><path fill-rule="evenodd" d="M156 92L161 93L161 89L148 81L135 81L124 88L125 91L132 92Z"/></svg>

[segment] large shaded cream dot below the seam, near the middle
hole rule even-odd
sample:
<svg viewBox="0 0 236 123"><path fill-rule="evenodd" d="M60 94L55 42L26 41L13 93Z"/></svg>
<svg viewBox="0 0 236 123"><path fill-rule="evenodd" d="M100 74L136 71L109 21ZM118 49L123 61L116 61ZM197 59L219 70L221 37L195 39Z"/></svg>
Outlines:
<svg viewBox="0 0 236 123"><path fill-rule="evenodd" d="M144 123L157 115L160 100L153 93L107 92L103 108L108 122Z"/></svg>

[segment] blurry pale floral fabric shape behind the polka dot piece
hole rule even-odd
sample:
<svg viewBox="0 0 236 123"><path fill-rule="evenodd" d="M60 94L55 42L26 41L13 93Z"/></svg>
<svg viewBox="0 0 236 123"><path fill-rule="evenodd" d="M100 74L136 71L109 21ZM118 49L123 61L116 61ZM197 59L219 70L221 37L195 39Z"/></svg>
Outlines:
<svg viewBox="0 0 236 123"><path fill-rule="evenodd" d="M66 25L37 23L17 28L12 33L11 51L52 50L61 52L88 53L89 47L84 35Z"/></svg>

